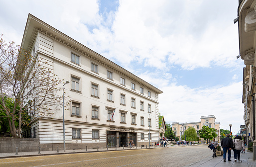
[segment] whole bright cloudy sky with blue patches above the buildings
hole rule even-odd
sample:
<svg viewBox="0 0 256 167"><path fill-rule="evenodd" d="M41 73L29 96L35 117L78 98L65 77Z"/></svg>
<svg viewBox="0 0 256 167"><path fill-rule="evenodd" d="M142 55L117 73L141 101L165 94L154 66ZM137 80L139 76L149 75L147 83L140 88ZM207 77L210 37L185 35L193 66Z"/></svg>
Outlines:
<svg viewBox="0 0 256 167"><path fill-rule="evenodd" d="M0 0L0 34L21 43L28 13L161 89L165 121L244 124L238 0Z"/></svg>

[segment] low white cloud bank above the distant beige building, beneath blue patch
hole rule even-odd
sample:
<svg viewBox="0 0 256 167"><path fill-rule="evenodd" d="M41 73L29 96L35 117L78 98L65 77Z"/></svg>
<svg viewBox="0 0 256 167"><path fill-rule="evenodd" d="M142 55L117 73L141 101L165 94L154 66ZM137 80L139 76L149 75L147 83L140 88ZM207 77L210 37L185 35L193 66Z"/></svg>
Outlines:
<svg viewBox="0 0 256 167"><path fill-rule="evenodd" d="M159 87L164 93L159 95L160 113L166 122L196 122L201 116L215 115L221 128L238 132L244 124L244 104L242 104L242 82L227 86L190 88L171 84Z"/></svg>

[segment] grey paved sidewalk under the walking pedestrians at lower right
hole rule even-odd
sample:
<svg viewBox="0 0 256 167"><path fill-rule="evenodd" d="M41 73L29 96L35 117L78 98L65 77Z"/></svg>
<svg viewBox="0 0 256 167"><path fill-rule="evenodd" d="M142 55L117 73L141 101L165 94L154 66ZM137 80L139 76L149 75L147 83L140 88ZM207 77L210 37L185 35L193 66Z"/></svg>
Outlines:
<svg viewBox="0 0 256 167"><path fill-rule="evenodd" d="M231 151L231 160L228 161L228 153L226 162L223 162L223 156L217 156L201 160L199 162L191 163L186 167L256 167L256 162L253 161L253 152L247 151L240 154L240 162L234 162L234 152Z"/></svg>

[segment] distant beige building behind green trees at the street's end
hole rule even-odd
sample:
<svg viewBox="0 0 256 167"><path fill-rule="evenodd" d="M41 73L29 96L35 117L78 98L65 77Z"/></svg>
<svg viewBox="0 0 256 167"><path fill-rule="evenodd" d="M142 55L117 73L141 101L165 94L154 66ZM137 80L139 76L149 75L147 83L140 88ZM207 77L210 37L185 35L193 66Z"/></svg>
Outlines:
<svg viewBox="0 0 256 167"><path fill-rule="evenodd" d="M189 123L179 123L179 122L172 122L172 131L174 132L175 136L178 137L180 140L181 135L183 135L184 130L188 129L189 127L193 127L196 129L196 132L199 136L199 130L203 126L209 126L210 128L215 128L217 130L217 138L220 141L220 122L215 122L216 117L214 115L202 116L200 122L189 122ZM200 136L199 136L200 138ZM217 141L217 140L216 140Z"/></svg>

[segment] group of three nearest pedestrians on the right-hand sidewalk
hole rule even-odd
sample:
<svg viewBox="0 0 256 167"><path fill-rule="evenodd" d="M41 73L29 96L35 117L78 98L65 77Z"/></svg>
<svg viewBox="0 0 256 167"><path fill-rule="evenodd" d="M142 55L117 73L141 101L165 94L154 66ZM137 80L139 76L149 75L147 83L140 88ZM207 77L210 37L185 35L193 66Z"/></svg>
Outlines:
<svg viewBox="0 0 256 167"><path fill-rule="evenodd" d="M213 150L213 157L216 156L216 150L217 147L219 146L218 142L213 139L211 143L211 149ZM241 136L236 136L234 140L230 138L230 135L227 134L225 138L222 139L221 141L221 147L223 148L223 162L226 162L226 155L228 152L228 161L231 161L231 150L233 149L234 151L234 159L235 162L240 161L240 153L242 151L245 152L245 142L243 141Z"/></svg>

